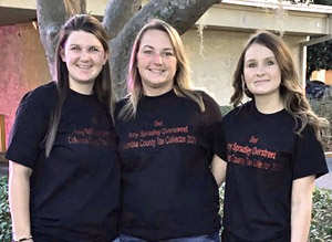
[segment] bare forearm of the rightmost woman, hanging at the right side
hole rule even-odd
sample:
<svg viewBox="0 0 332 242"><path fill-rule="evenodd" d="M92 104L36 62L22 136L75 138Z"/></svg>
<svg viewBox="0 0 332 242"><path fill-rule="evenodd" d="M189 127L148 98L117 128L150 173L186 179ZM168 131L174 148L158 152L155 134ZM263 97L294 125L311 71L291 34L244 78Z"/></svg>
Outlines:
<svg viewBox="0 0 332 242"><path fill-rule="evenodd" d="M315 176L293 180L291 198L291 242L307 242L311 222Z"/></svg>

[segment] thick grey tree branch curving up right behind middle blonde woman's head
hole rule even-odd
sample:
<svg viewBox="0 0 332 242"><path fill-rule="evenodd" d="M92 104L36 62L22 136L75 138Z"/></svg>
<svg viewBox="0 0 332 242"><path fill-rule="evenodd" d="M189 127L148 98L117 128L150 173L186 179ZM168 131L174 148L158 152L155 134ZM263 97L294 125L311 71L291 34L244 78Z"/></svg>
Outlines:
<svg viewBox="0 0 332 242"><path fill-rule="evenodd" d="M185 33L195 22L219 0L152 0L144 6L123 28L120 34L111 41L112 81L117 94L125 94L125 81L132 45L137 32L148 20L162 19L170 23L180 33ZM106 13L105 13L106 14Z"/></svg>

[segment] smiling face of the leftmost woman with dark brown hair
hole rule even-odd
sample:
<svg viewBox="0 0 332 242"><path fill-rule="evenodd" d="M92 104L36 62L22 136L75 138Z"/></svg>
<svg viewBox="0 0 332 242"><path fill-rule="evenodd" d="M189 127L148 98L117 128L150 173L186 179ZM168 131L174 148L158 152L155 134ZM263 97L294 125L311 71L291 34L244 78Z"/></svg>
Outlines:
<svg viewBox="0 0 332 242"><path fill-rule="evenodd" d="M73 31L61 50L61 59L66 63L70 88L82 94L91 94L96 76L107 61L101 41L92 33Z"/></svg>

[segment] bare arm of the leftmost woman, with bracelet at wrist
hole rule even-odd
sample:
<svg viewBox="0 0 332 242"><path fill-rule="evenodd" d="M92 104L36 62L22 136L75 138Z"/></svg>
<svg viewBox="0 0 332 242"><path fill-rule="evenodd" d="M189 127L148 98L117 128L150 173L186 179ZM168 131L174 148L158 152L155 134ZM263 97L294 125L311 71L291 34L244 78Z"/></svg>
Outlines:
<svg viewBox="0 0 332 242"><path fill-rule="evenodd" d="M30 228L30 176L32 169L10 161L9 203L13 240L31 236ZM27 240L27 242L31 240Z"/></svg>

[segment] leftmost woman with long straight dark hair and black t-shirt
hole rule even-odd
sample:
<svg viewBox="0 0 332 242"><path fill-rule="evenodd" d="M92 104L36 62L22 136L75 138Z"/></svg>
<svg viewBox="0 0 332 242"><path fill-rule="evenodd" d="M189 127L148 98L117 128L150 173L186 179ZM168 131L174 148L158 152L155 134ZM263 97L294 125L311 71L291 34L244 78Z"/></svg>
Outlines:
<svg viewBox="0 0 332 242"><path fill-rule="evenodd" d="M28 93L7 158L13 241L117 238L120 164L107 35L87 14L61 30L55 82Z"/></svg>

